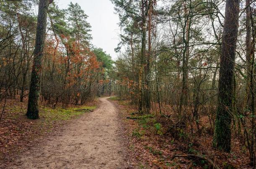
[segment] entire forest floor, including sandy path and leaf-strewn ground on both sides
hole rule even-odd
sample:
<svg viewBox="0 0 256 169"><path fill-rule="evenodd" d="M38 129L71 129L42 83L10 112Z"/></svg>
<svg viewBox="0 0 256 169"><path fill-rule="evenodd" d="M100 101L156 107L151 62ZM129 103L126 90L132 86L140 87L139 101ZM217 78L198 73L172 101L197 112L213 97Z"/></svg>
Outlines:
<svg viewBox="0 0 256 169"><path fill-rule="evenodd" d="M215 151L210 137L186 141L166 133L152 116L128 119L138 117L130 101L111 97L92 104L93 112L81 112L92 105L41 108L33 121L24 115L26 103L8 101L0 122L0 168L206 169L212 168L208 159L223 169L250 168L246 149Z"/></svg>

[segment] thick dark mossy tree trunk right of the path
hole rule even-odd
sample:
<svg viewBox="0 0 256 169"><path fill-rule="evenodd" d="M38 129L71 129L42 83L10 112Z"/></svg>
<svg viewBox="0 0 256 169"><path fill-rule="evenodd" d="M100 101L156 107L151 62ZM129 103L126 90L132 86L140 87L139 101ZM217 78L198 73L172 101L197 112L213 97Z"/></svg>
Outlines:
<svg viewBox="0 0 256 169"><path fill-rule="evenodd" d="M239 0L227 0L219 70L218 106L213 146L230 152L233 77L238 37Z"/></svg>

